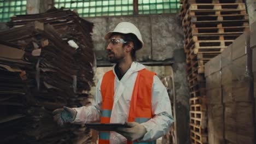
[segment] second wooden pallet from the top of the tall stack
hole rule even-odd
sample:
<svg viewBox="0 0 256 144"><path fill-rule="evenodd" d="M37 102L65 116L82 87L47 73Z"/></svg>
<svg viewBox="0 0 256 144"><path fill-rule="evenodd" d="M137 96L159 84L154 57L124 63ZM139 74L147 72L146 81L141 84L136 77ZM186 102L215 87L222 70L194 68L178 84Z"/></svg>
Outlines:
<svg viewBox="0 0 256 144"><path fill-rule="evenodd" d="M245 3L190 4L189 10L245 10Z"/></svg>

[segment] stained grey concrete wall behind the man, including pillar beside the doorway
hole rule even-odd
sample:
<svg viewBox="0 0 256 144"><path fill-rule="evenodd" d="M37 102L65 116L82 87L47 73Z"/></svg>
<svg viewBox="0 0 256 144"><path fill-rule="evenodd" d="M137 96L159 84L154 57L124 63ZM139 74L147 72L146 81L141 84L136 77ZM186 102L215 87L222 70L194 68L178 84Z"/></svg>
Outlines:
<svg viewBox="0 0 256 144"><path fill-rule="evenodd" d="M137 52L137 61L174 59L173 75L176 92L175 113L177 142L189 143L189 90L185 72L183 31L177 14L85 18L94 23L92 39L97 61L107 61L104 35L121 21L135 24L141 31L144 49Z"/></svg>

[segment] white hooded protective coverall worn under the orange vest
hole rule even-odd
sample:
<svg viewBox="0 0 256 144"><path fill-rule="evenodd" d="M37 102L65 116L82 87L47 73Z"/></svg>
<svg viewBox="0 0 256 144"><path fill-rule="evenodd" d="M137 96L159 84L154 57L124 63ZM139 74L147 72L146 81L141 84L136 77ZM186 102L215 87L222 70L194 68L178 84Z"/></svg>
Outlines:
<svg viewBox="0 0 256 144"><path fill-rule="evenodd" d="M115 74L113 66L113 72ZM131 96L133 86L135 85L136 77L139 70L145 69L145 66L133 62L131 68L127 70L125 75L119 81L115 74L114 80L114 104L110 117L110 123L124 123L127 122L129 116ZM77 116L73 123L84 124L99 122L101 117L101 82L97 83L95 99L91 106L73 108L77 110ZM173 122L171 103L168 97L166 87L162 84L158 76L154 76L152 88L152 113L153 118L145 123L141 123L147 129L147 133L140 141L156 140L162 135L166 134L170 125ZM126 143L126 138L123 135L110 132L110 143Z"/></svg>

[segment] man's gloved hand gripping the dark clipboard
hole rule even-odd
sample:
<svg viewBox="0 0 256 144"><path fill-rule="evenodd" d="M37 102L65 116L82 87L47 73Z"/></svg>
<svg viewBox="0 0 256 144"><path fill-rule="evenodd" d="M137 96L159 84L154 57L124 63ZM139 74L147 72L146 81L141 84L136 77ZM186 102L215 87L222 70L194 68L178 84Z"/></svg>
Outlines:
<svg viewBox="0 0 256 144"><path fill-rule="evenodd" d="M141 139L147 133L146 128L139 123L125 122L125 125L130 128L118 128L116 132L126 137L127 140Z"/></svg>

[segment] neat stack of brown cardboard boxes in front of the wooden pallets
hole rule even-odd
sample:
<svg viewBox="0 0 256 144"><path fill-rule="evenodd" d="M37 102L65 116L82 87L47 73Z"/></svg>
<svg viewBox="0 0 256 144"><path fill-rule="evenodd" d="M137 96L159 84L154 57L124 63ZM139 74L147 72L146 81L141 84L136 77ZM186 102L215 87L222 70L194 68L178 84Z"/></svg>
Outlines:
<svg viewBox="0 0 256 144"><path fill-rule="evenodd" d="M207 62L205 75L208 142L255 143L250 32Z"/></svg>

